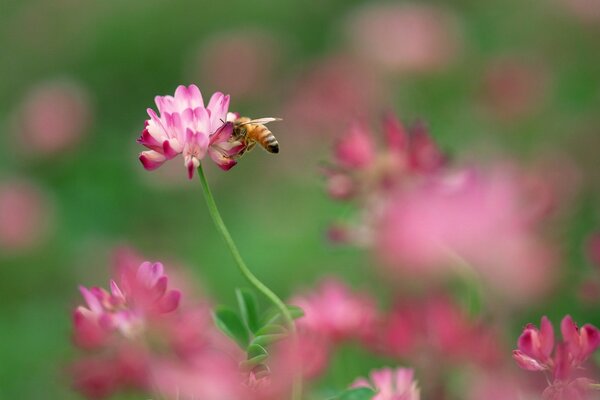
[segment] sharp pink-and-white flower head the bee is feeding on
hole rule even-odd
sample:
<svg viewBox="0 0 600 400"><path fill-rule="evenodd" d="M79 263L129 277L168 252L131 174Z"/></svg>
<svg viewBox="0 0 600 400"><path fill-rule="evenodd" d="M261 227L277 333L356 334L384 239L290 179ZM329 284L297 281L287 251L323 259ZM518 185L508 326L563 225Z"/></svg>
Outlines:
<svg viewBox="0 0 600 400"><path fill-rule="evenodd" d="M160 115L148 109L150 119L138 139L149 149L140 154L144 168L156 169L182 154L191 179L207 152L224 170L236 164L243 145L232 137L229 96L217 92L205 107L198 87L190 85L177 87L174 97L157 96L155 102Z"/></svg>

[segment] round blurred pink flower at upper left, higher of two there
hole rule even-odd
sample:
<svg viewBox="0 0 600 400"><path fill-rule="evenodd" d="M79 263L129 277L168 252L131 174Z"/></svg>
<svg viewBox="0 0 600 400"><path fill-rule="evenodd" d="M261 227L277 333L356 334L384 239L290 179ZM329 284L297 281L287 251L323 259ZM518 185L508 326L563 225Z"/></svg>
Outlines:
<svg viewBox="0 0 600 400"><path fill-rule="evenodd" d="M71 81L39 84L25 95L15 112L14 134L27 156L50 156L79 143L92 122L92 106L84 86Z"/></svg>

